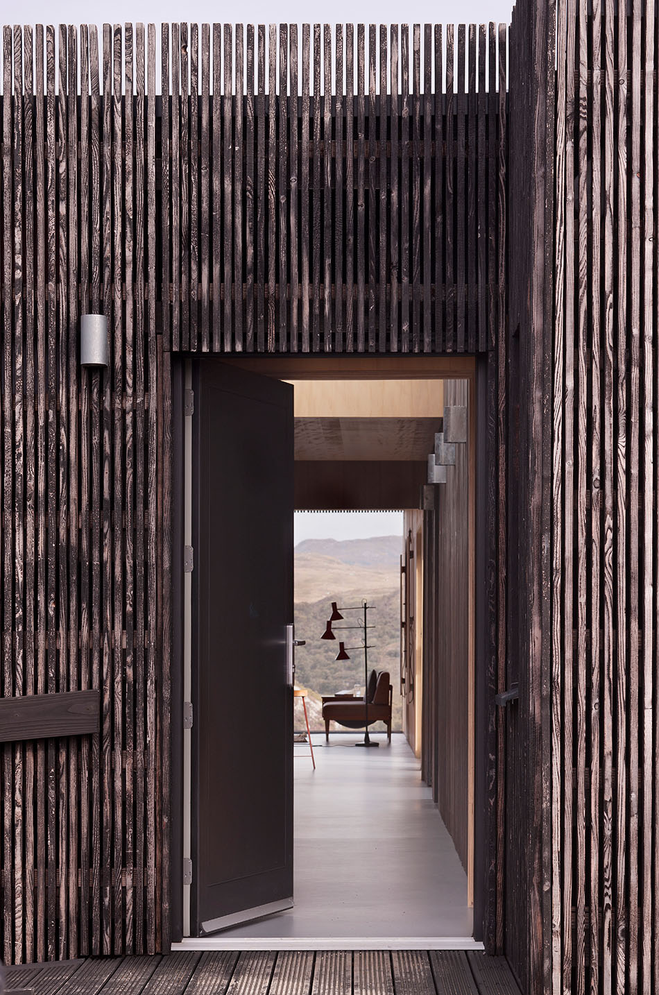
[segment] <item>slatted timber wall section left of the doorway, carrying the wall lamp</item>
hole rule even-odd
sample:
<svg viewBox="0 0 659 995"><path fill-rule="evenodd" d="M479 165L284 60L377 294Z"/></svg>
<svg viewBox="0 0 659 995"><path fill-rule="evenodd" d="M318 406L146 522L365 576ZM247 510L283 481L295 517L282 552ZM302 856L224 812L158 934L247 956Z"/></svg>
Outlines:
<svg viewBox="0 0 659 995"><path fill-rule="evenodd" d="M93 27L3 32L2 696L35 696L16 740L50 711L1 747L9 961L165 935L154 45L140 25L108 26L101 59ZM108 370L80 367L83 311L109 319ZM94 731L70 735L82 692Z"/></svg>

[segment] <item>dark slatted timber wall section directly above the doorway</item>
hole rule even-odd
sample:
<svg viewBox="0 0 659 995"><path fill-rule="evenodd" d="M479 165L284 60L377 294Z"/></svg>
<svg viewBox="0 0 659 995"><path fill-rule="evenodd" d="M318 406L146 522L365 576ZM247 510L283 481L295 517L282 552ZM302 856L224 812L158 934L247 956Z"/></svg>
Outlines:
<svg viewBox="0 0 659 995"><path fill-rule="evenodd" d="M165 347L485 351L503 318L497 230L492 252L486 244L489 220L505 209L505 58L503 76L487 78L488 100L485 51L462 44L463 90L445 97L442 33L430 25L411 39L396 26L390 46L384 26L305 25L301 45L293 26L273 29L267 44L241 26L232 41L232 31L202 32L202 65L216 68L209 95L188 65L187 28L163 27L163 79L176 81L162 117L172 178L161 201ZM496 68L506 33L493 38ZM199 107L184 128L179 91ZM201 190L194 216L186 187ZM213 218L210 240L202 217ZM186 322L206 321L208 335L188 336Z"/></svg>

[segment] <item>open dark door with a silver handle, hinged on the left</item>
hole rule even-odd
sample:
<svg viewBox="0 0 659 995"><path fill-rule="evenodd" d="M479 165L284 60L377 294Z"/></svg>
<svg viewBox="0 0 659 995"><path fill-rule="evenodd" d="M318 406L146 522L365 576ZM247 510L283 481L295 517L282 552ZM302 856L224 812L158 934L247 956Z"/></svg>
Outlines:
<svg viewBox="0 0 659 995"><path fill-rule="evenodd" d="M293 904L293 388L205 357L193 389L191 926L203 935Z"/></svg>

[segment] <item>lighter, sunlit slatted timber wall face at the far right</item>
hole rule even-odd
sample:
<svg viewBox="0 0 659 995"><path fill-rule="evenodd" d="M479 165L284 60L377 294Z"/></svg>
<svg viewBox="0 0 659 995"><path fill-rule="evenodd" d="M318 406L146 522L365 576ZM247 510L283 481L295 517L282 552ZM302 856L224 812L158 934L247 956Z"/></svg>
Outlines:
<svg viewBox="0 0 659 995"><path fill-rule="evenodd" d="M550 990L659 961L657 10L556 4ZM513 122L514 124L514 122Z"/></svg>

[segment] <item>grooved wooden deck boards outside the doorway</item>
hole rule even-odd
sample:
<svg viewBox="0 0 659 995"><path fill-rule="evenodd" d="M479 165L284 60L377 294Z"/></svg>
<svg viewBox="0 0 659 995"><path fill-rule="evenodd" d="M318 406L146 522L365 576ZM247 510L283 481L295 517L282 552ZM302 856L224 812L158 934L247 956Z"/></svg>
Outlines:
<svg viewBox="0 0 659 995"><path fill-rule="evenodd" d="M480 951L211 951L10 967L32 995L519 995Z"/></svg>

